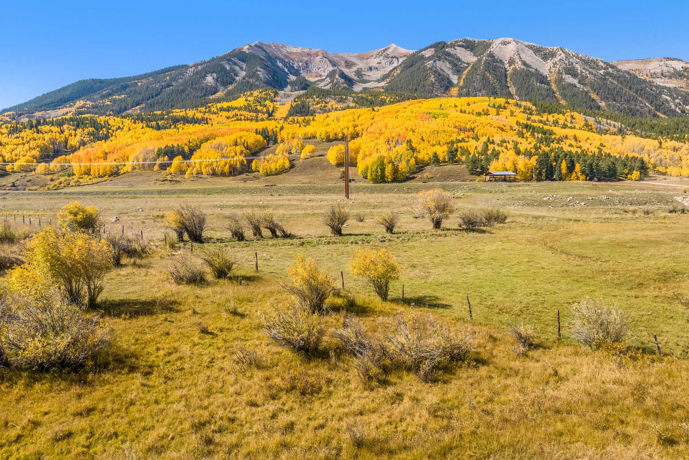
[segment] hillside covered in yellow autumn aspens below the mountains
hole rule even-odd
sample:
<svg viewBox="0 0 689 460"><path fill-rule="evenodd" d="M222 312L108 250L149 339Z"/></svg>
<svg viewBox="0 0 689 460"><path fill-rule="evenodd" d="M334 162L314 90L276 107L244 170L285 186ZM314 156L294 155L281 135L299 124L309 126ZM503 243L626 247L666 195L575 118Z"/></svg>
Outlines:
<svg viewBox="0 0 689 460"><path fill-rule="evenodd" d="M638 180L652 171L689 177L689 135L637 135L624 123L564 108L450 97L287 117L289 105L278 105L276 97L276 90L266 89L192 110L6 119L0 157L8 172L60 176L53 186L132 170L269 175L326 153L316 152L309 139L332 143L349 133L350 162L372 182L404 180L437 163L466 163L473 174L511 170L522 181ZM277 150L262 154L276 143ZM335 145L327 158L339 166L343 152Z"/></svg>

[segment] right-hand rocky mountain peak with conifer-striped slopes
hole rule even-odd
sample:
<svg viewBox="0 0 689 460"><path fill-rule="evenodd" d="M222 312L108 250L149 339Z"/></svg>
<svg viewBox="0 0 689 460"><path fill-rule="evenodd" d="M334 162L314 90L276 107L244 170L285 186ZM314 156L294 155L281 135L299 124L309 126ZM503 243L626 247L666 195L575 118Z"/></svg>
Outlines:
<svg viewBox="0 0 689 460"><path fill-rule="evenodd" d="M689 97L565 48L515 39L438 42L387 75L387 88L440 96L500 96L558 101L635 115L689 112Z"/></svg>

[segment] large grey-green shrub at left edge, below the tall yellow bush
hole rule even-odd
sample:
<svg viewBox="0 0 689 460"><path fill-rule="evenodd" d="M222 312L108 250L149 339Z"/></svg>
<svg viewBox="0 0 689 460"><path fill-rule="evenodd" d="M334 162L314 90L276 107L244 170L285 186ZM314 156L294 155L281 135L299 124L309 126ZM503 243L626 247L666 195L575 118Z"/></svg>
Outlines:
<svg viewBox="0 0 689 460"><path fill-rule="evenodd" d="M24 300L0 316L0 342L12 366L72 368L110 345L110 330L59 292Z"/></svg>

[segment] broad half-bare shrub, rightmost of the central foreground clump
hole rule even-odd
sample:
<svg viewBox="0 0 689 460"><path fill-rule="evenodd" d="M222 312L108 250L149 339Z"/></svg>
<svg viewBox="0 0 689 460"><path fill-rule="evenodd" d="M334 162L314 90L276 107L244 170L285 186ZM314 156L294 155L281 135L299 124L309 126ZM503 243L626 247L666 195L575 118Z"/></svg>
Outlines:
<svg viewBox="0 0 689 460"><path fill-rule="evenodd" d="M393 366L415 372L421 381L433 381L438 372L469 359L472 341L469 330L451 331L431 318L415 314L398 316L384 334Z"/></svg>

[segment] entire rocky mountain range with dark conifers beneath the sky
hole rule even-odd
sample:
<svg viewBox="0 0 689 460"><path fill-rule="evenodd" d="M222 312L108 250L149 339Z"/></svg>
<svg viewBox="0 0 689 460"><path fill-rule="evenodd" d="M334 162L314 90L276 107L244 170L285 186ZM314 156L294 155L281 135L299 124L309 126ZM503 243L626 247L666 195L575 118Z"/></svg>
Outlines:
<svg viewBox="0 0 689 460"><path fill-rule="evenodd" d="M189 65L76 81L2 112L122 114L198 107L266 87L289 96L310 86L418 97L496 96L641 116L689 114L686 61L608 63L510 38L439 41L421 50L391 44L358 54L256 41Z"/></svg>

